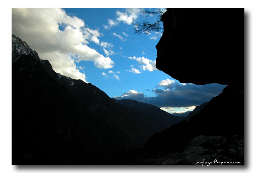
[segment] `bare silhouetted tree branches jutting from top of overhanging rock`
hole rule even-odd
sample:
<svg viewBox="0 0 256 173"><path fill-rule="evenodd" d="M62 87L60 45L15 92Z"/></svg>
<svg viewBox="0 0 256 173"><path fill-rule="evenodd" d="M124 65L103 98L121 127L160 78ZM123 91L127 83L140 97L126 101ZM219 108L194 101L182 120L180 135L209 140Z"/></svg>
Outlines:
<svg viewBox="0 0 256 173"><path fill-rule="evenodd" d="M156 15L157 16L157 22L149 22L143 21L143 22L135 22L133 21L134 25L134 34L150 34L151 32L163 32L163 24L162 24L162 14L164 14L166 10L161 10L160 8L157 8L156 11L150 11L148 9L142 9L140 10L141 13L145 14L146 17Z"/></svg>

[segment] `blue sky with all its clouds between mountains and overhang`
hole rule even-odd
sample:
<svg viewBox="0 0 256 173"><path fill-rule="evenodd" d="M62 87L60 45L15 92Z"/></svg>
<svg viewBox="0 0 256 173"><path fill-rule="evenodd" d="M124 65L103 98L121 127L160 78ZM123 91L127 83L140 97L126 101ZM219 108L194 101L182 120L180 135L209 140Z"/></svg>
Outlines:
<svg viewBox="0 0 256 173"><path fill-rule="evenodd" d="M224 85L181 84L156 69L155 45L161 33L134 34L132 21L157 18L140 10L12 8L12 34L26 41L41 59L48 59L56 72L89 82L109 97L180 113L220 94ZM170 66L182 70L182 64Z"/></svg>

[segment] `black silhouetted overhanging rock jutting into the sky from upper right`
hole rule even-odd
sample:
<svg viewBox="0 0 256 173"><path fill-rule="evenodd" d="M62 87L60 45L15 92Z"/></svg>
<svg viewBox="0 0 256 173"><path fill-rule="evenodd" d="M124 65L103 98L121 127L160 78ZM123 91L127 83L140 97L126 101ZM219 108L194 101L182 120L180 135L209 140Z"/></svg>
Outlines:
<svg viewBox="0 0 256 173"><path fill-rule="evenodd" d="M244 83L244 8L167 8L156 67L183 83Z"/></svg>

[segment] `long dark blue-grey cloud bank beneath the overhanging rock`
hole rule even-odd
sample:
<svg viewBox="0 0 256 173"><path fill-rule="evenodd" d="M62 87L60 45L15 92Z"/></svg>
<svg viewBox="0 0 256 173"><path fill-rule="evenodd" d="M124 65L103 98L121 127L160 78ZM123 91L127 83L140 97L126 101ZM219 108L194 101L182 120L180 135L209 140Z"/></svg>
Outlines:
<svg viewBox="0 0 256 173"><path fill-rule="evenodd" d="M198 106L206 101L210 101L213 97L218 96L226 85L220 84L180 84L177 81L166 79L160 81L156 88L152 90L155 96L148 97L143 93L128 92L121 96L116 96L116 99L134 99L137 101L153 104L157 107L190 107ZM130 90L131 91L131 90ZM139 96L135 96L135 95ZM143 95L142 95L143 94Z"/></svg>

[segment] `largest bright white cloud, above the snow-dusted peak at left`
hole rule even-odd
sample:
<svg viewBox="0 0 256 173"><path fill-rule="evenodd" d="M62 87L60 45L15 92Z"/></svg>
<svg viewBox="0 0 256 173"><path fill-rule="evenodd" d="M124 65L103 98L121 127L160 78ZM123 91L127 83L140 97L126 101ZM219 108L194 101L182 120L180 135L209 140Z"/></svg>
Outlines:
<svg viewBox="0 0 256 173"><path fill-rule="evenodd" d="M75 62L89 60L103 69L114 65L109 57L87 46L89 41L112 45L99 41L99 29L85 27L83 20L61 8L12 8L12 34L26 41L41 59L48 59L56 72L73 79L86 82Z"/></svg>

